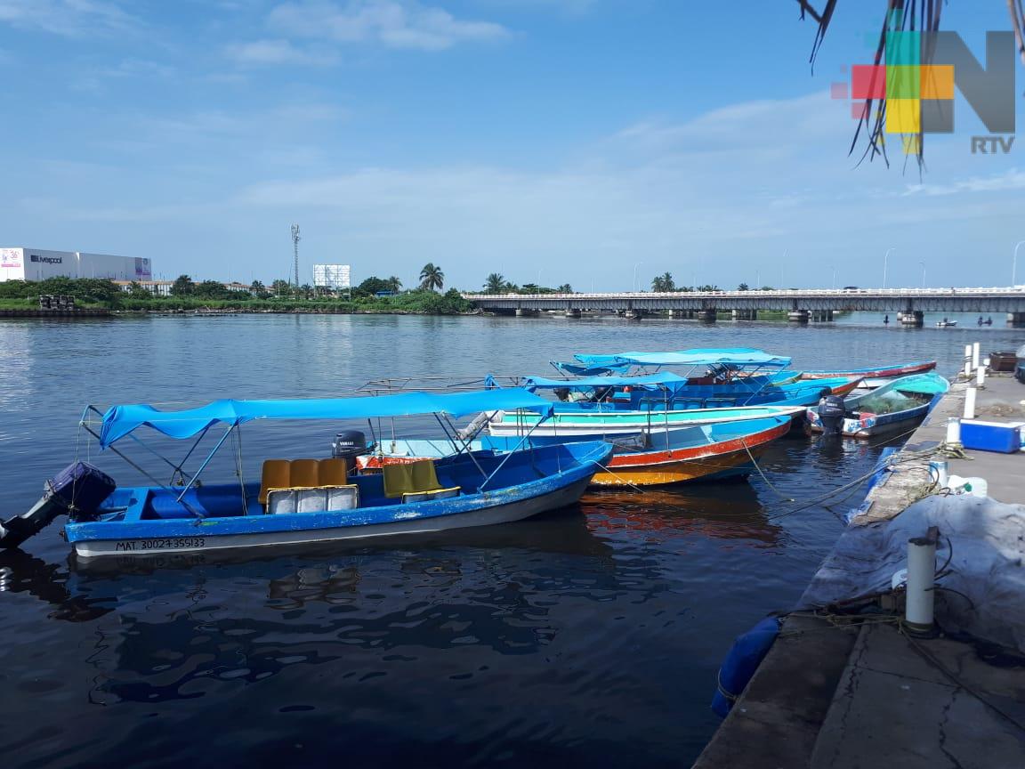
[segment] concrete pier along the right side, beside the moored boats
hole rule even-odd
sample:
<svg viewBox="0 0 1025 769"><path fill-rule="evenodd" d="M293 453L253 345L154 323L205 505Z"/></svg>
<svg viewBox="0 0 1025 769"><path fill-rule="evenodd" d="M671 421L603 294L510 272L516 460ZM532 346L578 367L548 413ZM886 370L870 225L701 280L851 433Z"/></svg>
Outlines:
<svg viewBox="0 0 1025 769"><path fill-rule="evenodd" d="M852 529L900 515L928 488L933 450L948 417L962 414L967 390L967 382L955 385L911 435L899 472L873 487ZM1025 421L1023 398L1025 386L991 374L977 391L977 416ZM990 497L1025 504L1020 454L969 451L947 461L951 475L985 478ZM829 570L827 558L824 580ZM694 766L1025 766L1025 730L1014 723L1025 724L1025 665L991 662L993 652L982 654L971 639L909 638L884 614L789 615Z"/></svg>

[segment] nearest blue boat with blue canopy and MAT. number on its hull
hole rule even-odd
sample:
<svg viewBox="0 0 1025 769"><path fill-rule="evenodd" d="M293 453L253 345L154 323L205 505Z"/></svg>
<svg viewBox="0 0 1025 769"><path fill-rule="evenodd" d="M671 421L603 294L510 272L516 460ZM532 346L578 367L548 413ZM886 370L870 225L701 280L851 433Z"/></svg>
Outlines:
<svg viewBox="0 0 1025 769"><path fill-rule="evenodd" d="M508 453L464 451L438 461L427 459L364 475L355 470L353 459L363 449L354 440L351 453L336 452L331 458L268 459L259 482L243 481L240 472L234 483L198 484L213 455L247 422L435 414L443 427L451 427L451 417L501 409L544 417L551 404L510 389L225 400L178 411L125 405L104 413L98 432L92 429L90 414L99 411L89 407L82 427L98 440L100 448L126 459L115 444L126 438L140 441L135 431L144 427L189 441L187 458L208 431L223 429L223 433L195 475L188 482L181 478L178 485L115 487L101 472L82 463L72 466L59 482L51 482L47 495L29 514L0 526L0 547L17 547L64 512L70 513L65 535L77 556L96 558L436 532L518 521L576 502L611 456L612 446L584 442L533 447L525 441L526 448ZM351 435L339 434L339 438ZM234 445L241 450L241 442ZM178 475L183 461L172 462ZM239 457L237 468L241 471L241 467Z"/></svg>

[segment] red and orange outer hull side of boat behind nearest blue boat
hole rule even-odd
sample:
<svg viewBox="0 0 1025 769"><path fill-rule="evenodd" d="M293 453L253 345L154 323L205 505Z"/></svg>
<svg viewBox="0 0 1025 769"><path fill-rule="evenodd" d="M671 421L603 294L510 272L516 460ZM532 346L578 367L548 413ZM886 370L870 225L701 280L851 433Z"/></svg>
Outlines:
<svg viewBox="0 0 1025 769"><path fill-rule="evenodd" d="M594 486L664 486L748 475L753 459L790 430L782 422L771 430L683 449L615 454L594 474Z"/></svg>

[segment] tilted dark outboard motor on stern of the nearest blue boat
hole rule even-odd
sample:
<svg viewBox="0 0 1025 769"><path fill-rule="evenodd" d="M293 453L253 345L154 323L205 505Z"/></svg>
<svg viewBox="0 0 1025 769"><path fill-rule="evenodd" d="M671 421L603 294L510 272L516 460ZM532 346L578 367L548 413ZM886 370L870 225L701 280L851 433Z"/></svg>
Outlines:
<svg viewBox="0 0 1025 769"><path fill-rule="evenodd" d="M32 510L0 523L0 548L17 548L49 526L63 513L76 521L87 521L117 484L114 479L91 464L75 462L43 486L43 496Z"/></svg>

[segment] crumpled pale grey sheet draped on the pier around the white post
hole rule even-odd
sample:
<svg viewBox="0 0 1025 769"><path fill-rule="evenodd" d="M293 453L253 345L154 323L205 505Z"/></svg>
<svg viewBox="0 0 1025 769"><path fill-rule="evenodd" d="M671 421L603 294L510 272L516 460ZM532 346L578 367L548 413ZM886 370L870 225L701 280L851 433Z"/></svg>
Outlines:
<svg viewBox="0 0 1025 769"><path fill-rule="evenodd" d="M885 592L905 568L907 540L940 530L936 567L953 559L938 584L936 619L945 629L1025 652L1025 505L968 494L930 496L889 521L852 526L805 592L803 608Z"/></svg>

